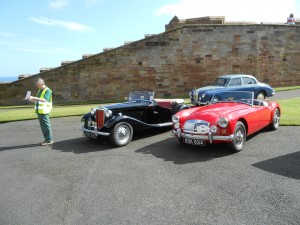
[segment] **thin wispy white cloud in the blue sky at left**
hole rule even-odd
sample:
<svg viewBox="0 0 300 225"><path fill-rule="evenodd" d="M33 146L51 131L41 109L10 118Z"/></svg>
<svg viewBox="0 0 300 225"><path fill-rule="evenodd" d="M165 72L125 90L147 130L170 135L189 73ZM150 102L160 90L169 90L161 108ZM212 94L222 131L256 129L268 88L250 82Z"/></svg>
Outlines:
<svg viewBox="0 0 300 225"><path fill-rule="evenodd" d="M85 33L94 31L92 27L77 22L49 19L44 17L39 17L39 18L31 17L30 20L35 23L39 23L47 26L63 27L70 31L85 32Z"/></svg>

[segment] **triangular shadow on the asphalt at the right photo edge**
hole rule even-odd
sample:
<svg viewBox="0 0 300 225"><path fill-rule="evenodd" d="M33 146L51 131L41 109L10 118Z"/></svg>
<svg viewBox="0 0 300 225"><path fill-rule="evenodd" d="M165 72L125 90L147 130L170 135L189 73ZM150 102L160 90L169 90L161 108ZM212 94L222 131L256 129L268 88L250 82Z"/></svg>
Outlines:
<svg viewBox="0 0 300 225"><path fill-rule="evenodd" d="M261 170L275 173L281 176L300 179L300 152L279 156L273 159L253 164Z"/></svg>

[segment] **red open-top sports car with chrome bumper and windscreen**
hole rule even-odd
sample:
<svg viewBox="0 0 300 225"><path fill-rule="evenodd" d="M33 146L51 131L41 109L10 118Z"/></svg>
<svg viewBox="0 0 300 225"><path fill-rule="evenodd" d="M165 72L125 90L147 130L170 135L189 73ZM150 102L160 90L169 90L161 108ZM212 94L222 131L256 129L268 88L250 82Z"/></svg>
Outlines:
<svg viewBox="0 0 300 225"><path fill-rule="evenodd" d="M186 144L227 143L239 152L247 136L265 127L276 130L280 115L278 103L254 99L253 92L217 92L209 105L176 113L172 132Z"/></svg>

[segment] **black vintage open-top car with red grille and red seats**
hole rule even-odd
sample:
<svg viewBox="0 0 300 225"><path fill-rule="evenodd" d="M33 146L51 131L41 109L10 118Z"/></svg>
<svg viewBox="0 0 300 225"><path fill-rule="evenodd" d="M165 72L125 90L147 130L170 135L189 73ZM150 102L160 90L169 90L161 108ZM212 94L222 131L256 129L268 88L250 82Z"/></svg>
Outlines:
<svg viewBox="0 0 300 225"><path fill-rule="evenodd" d="M108 136L116 146L127 145L133 131L172 127L172 115L188 108L183 99L154 99L154 92L134 91L128 101L92 108L81 121L82 132L91 139Z"/></svg>

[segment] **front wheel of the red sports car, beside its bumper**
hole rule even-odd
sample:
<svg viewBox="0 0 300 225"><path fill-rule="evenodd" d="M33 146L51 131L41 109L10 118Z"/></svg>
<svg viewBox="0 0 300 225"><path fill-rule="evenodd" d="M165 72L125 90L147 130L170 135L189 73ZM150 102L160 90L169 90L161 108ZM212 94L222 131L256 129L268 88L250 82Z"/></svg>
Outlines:
<svg viewBox="0 0 300 225"><path fill-rule="evenodd" d="M243 149L246 142L246 128L245 125L238 121L235 125L233 140L229 143L229 150L232 152L239 152Z"/></svg>

